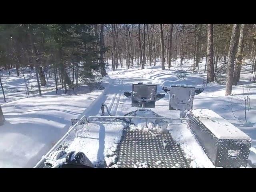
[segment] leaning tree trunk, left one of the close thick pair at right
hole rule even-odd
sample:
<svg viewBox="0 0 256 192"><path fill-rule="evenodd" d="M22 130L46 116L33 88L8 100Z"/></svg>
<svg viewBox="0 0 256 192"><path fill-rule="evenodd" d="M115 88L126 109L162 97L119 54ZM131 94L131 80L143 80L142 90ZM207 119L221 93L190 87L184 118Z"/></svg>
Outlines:
<svg viewBox="0 0 256 192"><path fill-rule="evenodd" d="M235 60L237 45L238 45L238 33L239 33L239 25L234 24L231 38L230 38L230 47L228 50L228 68L227 68L226 94L225 94L226 96L232 93L234 60Z"/></svg>

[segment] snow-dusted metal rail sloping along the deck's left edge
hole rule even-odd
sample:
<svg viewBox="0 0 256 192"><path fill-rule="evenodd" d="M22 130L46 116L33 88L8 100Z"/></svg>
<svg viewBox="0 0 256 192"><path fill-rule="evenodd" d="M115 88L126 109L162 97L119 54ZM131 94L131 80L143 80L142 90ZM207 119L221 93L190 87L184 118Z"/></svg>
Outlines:
<svg viewBox="0 0 256 192"><path fill-rule="evenodd" d="M86 116L82 116L82 118L80 118L80 120L78 120L78 122L76 122L76 124L74 124L69 130L68 132L66 132L66 134L44 155L42 156L41 160L36 164L36 166L34 166L34 168L39 168L43 163L44 161L46 160L45 157L48 157L49 154L51 152L53 152L54 150L56 150L56 148L69 136L70 132L74 130L75 134L76 134L76 138L77 138L77 129L76 129L76 126L78 126L78 124L80 124L83 120L85 119L85 121L87 122L86 120Z"/></svg>

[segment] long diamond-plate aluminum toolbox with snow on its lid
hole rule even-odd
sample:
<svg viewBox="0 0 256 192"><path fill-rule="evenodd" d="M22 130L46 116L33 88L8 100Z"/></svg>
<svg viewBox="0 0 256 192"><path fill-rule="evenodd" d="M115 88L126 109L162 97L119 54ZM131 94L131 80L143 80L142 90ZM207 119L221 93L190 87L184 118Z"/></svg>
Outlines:
<svg viewBox="0 0 256 192"><path fill-rule="evenodd" d="M251 138L230 122L208 109L194 109L188 125L214 166L247 166Z"/></svg>

